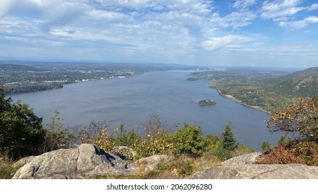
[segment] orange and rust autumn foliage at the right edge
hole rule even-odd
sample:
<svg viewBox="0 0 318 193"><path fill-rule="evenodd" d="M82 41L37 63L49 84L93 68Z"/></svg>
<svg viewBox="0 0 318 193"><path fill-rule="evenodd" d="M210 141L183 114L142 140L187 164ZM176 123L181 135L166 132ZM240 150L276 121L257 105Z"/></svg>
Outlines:
<svg viewBox="0 0 318 193"><path fill-rule="evenodd" d="M257 163L303 163L318 165L318 97L299 98L283 109L271 111L267 127L271 132L294 134L287 141L265 154Z"/></svg>

